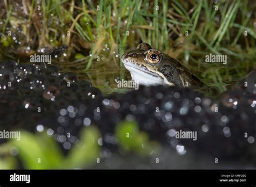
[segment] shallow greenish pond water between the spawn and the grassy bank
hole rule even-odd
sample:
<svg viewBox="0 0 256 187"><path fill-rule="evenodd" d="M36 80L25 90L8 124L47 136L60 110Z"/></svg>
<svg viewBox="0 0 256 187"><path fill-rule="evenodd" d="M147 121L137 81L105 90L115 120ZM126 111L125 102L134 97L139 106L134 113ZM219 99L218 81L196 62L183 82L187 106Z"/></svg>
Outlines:
<svg viewBox="0 0 256 187"><path fill-rule="evenodd" d="M0 57L1 55L2 59L0 58L0 61L10 59L7 56L4 56L3 53L0 53ZM131 80L130 72L125 69L123 64L120 62L120 59L117 58L116 62L113 62L111 60L106 60L106 58L107 56L103 57L106 62L92 61L92 67L88 70L85 70L86 64L89 61L88 58L78 63L75 61L66 61L65 59L61 58L59 61L53 59L51 65L56 65L59 67L62 73L71 71L77 74L80 80L90 81L93 86L102 90L104 95L108 95L112 92L124 93L131 90L119 89L117 87L117 82L115 80ZM30 59L28 57L16 59L17 62L22 63L30 63L29 60ZM203 57L199 58L198 61L204 61ZM194 73L194 75L199 77L201 81L203 81L206 85L214 90L213 92L206 91L206 96L218 98L218 95L220 95L221 92L232 89L238 81L244 78L246 76L246 72L250 73L252 70L251 66L255 66L252 60L245 60L241 63L241 61L238 59L229 59L229 62L230 63L228 63L226 66L220 64L210 64L210 71L208 71L208 73L205 73L204 71L207 70L209 64L206 64L206 67L204 67L205 64L202 64L201 66L203 66L203 68L201 68L201 71L198 70L197 67L192 67L192 73ZM240 73L238 68L234 68L233 64L238 64L238 66L241 64L241 68L246 70L243 70ZM204 77L202 75L204 75Z"/></svg>

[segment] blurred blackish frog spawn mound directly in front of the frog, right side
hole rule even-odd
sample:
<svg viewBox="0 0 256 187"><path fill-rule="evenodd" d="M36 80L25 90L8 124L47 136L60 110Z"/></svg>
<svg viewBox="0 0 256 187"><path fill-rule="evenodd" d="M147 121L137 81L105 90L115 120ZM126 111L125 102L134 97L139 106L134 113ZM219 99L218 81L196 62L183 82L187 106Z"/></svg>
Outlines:
<svg viewBox="0 0 256 187"><path fill-rule="evenodd" d="M228 111L221 105L219 112L215 112L212 108L216 104L212 99L175 87L140 87L123 98L110 96L105 100L107 111L113 111L106 115L110 116L112 123L105 127L105 132L108 133L109 128L119 121L136 120L140 130L146 131L151 139L176 149L180 155L186 154L187 149L193 149L213 157L237 158L251 147L244 130L252 137L255 135L255 110L249 105L239 104L238 110L234 111ZM114 107L116 102L120 105L118 109ZM250 111L250 115L245 117L242 110ZM197 140L177 139L176 132L180 130L197 132ZM108 144L106 142L105 145L113 146Z"/></svg>

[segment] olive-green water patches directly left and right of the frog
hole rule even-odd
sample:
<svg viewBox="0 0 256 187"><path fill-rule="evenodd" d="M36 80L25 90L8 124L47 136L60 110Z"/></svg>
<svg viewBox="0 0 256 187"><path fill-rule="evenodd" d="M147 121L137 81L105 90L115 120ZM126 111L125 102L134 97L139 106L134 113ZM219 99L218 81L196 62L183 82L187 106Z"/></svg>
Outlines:
<svg viewBox="0 0 256 187"><path fill-rule="evenodd" d="M199 59L202 60L203 59ZM205 76L201 77L201 74L198 70L195 71L195 75L197 77L200 77L199 79L203 81L206 85L211 87L213 90L212 92L207 92L207 91L201 91L203 92L206 96L213 97L213 98L218 98L218 96L227 90L233 89L234 85L239 82L242 78L244 78L247 74L240 74L239 71L235 70L233 67L233 64L235 64L235 61L238 61L237 59L231 60L232 63L225 66L223 65L220 67L219 64L211 64L211 74L214 76ZM89 69L87 71L81 71L81 70L71 70L73 72L77 72L78 77L81 80L89 80L92 82L92 84L102 90L102 92L107 95L112 92L120 92L124 93L125 91L129 91L131 89L119 89L117 87L117 82L115 81L116 79L124 79L124 80L131 80L131 75L129 70L125 69L125 67L121 64L120 67L108 67L106 66L105 63L103 62L92 62L96 63L97 66L96 68ZM63 67L65 69L65 63L63 63L63 66L60 66L60 68ZM244 64L252 64L252 61L244 61ZM215 67L214 67L215 66ZM244 68L244 67L243 67ZM192 68L192 73L193 73ZM247 68L247 72L250 73L252 69ZM222 71L222 72L221 72ZM223 73L223 71L226 71L228 73ZM209 73L209 74L210 74ZM221 74L224 74L222 76ZM228 74L228 75L227 75ZM221 81L219 81L221 80ZM200 90L198 90L200 91Z"/></svg>

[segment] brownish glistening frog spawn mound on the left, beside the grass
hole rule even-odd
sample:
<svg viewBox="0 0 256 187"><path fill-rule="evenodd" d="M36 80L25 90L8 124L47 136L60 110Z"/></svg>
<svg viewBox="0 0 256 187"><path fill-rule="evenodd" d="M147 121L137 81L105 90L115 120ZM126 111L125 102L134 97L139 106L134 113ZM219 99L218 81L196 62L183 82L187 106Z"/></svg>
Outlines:
<svg viewBox="0 0 256 187"><path fill-rule="evenodd" d="M72 74L73 80L60 77L56 66L46 68L44 63L4 61L0 67L2 129L20 127L33 132L37 125L42 125L41 121L47 120L48 116L52 118L60 106L77 102L79 97L73 84L78 84L81 90L91 87L90 82L78 81L72 73L63 76ZM69 81L71 87L67 87Z"/></svg>

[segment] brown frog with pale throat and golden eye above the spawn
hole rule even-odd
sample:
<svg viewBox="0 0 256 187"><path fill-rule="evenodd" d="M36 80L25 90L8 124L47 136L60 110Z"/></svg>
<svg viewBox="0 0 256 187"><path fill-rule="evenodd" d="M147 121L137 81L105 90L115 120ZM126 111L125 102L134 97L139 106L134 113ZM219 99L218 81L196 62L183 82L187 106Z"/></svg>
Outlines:
<svg viewBox="0 0 256 187"><path fill-rule="evenodd" d="M139 85L166 85L199 89L204 83L173 57L142 42L135 50L122 55L124 67Z"/></svg>

